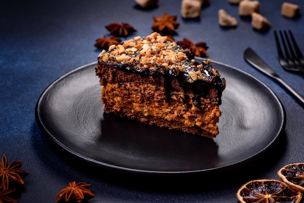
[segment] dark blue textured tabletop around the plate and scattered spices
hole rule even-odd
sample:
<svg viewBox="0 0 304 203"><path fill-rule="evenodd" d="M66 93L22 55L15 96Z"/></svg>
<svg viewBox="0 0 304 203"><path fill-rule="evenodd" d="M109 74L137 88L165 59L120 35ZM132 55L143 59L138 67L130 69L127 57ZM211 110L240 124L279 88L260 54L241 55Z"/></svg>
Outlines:
<svg viewBox="0 0 304 203"><path fill-rule="evenodd" d="M253 30L250 19L237 15L237 5L210 0L198 20L180 16L180 0L160 0L152 10L141 10L133 0L121 1L0 1L0 155L8 161L23 160L29 171L25 186L15 197L21 203L55 202L68 182L86 182L96 194L90 202L231 202L245 182L257 178L278 179L284 165L304 162L304 109L280 85L258 72L243 59L253 48L284 80L304 95L304 77L284 71L278 63L273 30L291 29L304 52L304 1L302 16L280 15L284 0L261 1L260 13L271 22L268 32ZM218 10L225 9L238 20L235 29L218 25ZM208 58L242 69L268 85L286 109L285 134L262 158L241 169L217 176L142 177L125 175L79 164L46 136L34 117L35 104L43 90L68 71L97 60L95 39L108 34L104 26L118 21L135 27L137 33L152 32L152 16L178 15L176 40L188 37L206 41ZM128 37L128 38L129 38ZM229 85L229 84L227 84ZM242 175L240 172L246 171ZM154 185L155 184L155 185ZM198 184L198 185L196 185ZM193 186L196 185L196 186Z"/></svg>

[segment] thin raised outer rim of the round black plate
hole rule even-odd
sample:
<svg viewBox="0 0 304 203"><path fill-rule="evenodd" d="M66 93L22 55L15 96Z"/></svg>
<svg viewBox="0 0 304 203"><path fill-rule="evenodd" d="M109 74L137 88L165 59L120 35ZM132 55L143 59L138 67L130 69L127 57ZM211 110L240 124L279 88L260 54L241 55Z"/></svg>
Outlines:
<svg viewBox="0 0 304 203"><path fill-rule="evenodd" d="M205 58L201 58L201 57L195 57L196 59L199 60L204 60ZM282 124L280 125L280 130L278 131L277 135L275 135L273 137L273 139L271 140L270 143L268 143L267 146L264 147L264 149L260 150L259 152L253 154L252 156L238 161L236 163L227 165L227 166L222 166L222 167L215 167L212 169L199 169L199 170L188 170L188 171L155 171L155 170L145 170L145 169L130 169L130 168L126 168L126 167L121 167L121 166L116 166L116 165L111 165L111 164L107 164L101 161L97 161L95 159L86 157L78 152L75 152L74 150L69 149L67 146L65 146L64 144L62 144L59 140L57 140L53 135L51 135L51 133L47 130L47 128L45 127L45 125L43 124L42 119L40 118L40 114L39 114L39 106L40 106L40 102L42 100L42 98L45 96L45 94L48 92L48 90L51 88L51 86L57 84L58 82L60 82L62 79L64 79L65 77L67 77L70 74L73 74L74 72L80 70L80 69L84 69L87 67L90 67L92 65L97 65L98 61L94 61L88 64L85 64L83 66L80 66L78 68L74 68L70 71L68 71L67 73L63 74L62 76L58 77L57 79L55 79L53 82L51 82L51 84L49 84L44 91L41 93L41 95L38 98L38 101L36 102L35 105L35 120L36 123L38 124L38 127L40 129L40 131L42 132L42 134L46 134L49 138L51 138L51 140L56 143L58 146L60 146L63 150L65 150L66 152L68 152L69 154L72 154L74 156L76 156L77 158L86 161L90 164L93 164L97 167L105 167L107 169L116 169L118 171L124 171L124 172L131 172L131 173L136 173L136 174L193 174L193 173L205 173L205 172L222 172L222 171L227 171L227 170L232 170L237 168L237 166L244 165L246 163L250 163L253 162L254 160L258 159L259 157L261 157L265 151L267 151L267 149L269 149L274 143L275 141L278 139L278 137L284 132L285 127L286 127L286 111L284 108L283 103L280 101L280 99L277 97L277 95L270 89L270 87L268 85L266 85L265 83L263 83L261 80L259 80L258 78L256 78L255 76L245 72L244 70L238 69L236 67L227 65L225 63L222 62L218 62L215 60L212 60L213 63L217 63L220 64L221 66L224 67L228 67L228 68L232 68L236 71L241 72L242 74L247 75L248 77L253 78L254 80L256 80L260 85L263 85L265 88L268 89L268 91L271 93L271 95L273 96L273 98L277 101L277 103L279 104L279 109L280 112L282 114Z"/></svg>

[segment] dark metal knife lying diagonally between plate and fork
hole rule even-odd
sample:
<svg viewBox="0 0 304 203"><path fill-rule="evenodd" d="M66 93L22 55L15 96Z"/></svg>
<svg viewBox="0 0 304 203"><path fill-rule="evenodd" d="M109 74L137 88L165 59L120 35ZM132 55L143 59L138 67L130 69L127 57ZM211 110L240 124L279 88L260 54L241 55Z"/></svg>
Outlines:
<svg viewBox="0 0 304 203"><path fill-rule="evenodd" d="M261 59L251 48L247 48L244 51L245 60L253 65L253 67L259 69L275 81L283 85L299 102L304 106L304 97L288 85L280 76L278 76L264 61Z"/></svg>

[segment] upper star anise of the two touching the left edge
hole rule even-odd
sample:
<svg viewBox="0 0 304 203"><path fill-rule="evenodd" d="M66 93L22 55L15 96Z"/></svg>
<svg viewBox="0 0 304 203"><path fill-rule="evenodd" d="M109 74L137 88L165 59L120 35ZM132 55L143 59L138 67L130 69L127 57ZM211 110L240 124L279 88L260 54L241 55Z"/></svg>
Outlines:
<svg viewBox="0 0 304 203"><path fill-rule="evenodd" d="M0 163L0 179L3 189L13 188L13 186L22 186L24 184L22 177L28 174L27 171L20 169L22 161L13 161L7 164L7 158L3 154ZM12 186L11 186L12 185Z"/></svg>

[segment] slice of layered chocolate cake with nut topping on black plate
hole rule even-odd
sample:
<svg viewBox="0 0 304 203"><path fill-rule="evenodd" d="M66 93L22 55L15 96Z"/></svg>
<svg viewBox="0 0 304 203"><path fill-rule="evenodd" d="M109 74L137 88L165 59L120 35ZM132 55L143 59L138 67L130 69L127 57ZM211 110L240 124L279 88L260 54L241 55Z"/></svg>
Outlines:
<svg viewBox="0 0 304 203"><path fill-rule="evenodd" d="M225 79L211 60L152 33L112 45L98 56L104 112L214 138Z"/></svg>

